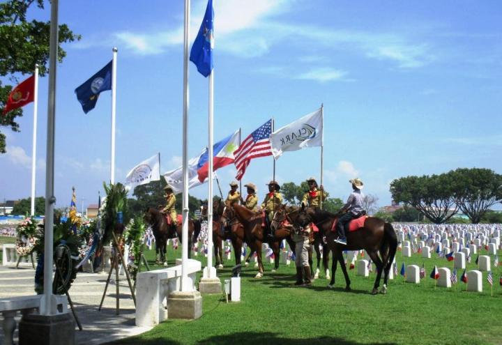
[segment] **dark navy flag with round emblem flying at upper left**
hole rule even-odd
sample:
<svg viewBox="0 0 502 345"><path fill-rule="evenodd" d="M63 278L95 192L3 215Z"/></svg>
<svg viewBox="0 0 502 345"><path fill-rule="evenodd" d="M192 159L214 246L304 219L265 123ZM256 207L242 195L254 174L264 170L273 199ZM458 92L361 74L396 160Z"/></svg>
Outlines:
<svg viewBox="0 0 502 345"><path fill-rule="evenodd" d="M112 61L75 89L84 113L96 107L100 92L112 90Z"/></svg>

